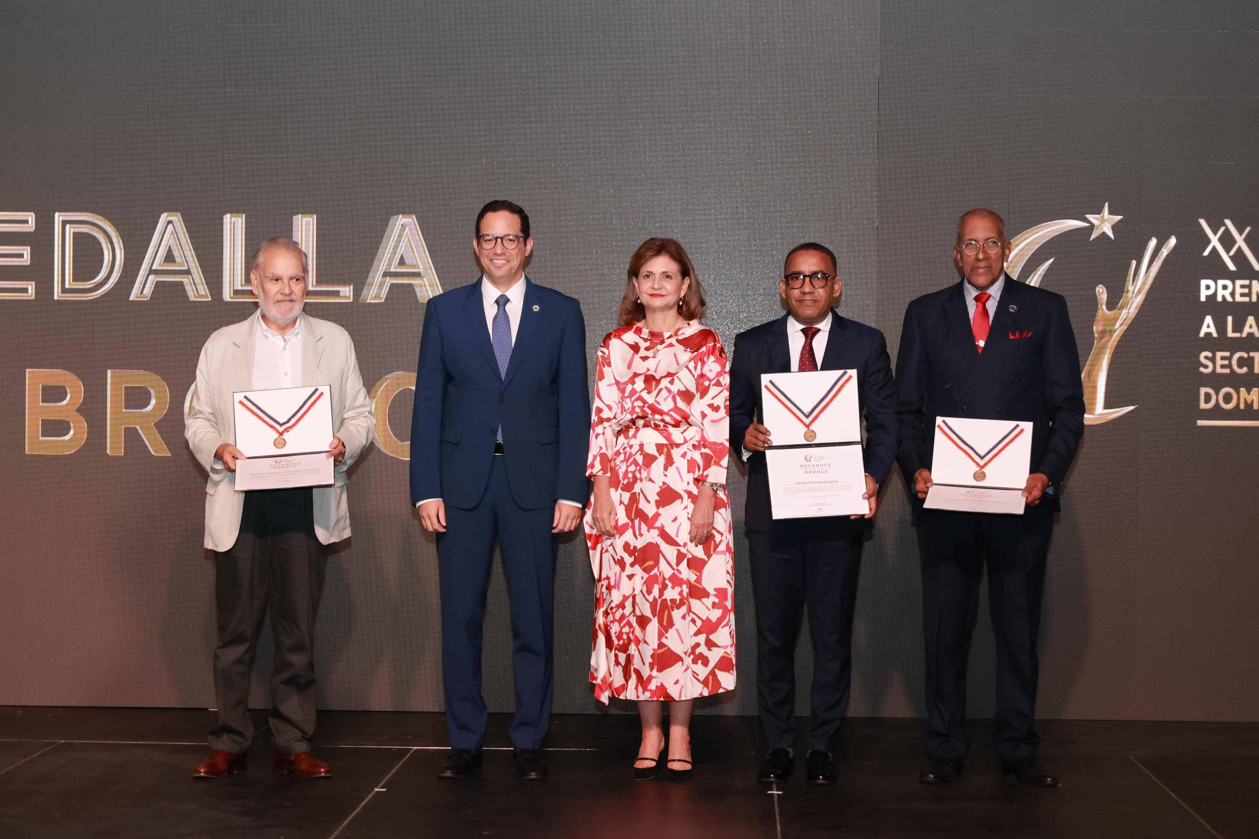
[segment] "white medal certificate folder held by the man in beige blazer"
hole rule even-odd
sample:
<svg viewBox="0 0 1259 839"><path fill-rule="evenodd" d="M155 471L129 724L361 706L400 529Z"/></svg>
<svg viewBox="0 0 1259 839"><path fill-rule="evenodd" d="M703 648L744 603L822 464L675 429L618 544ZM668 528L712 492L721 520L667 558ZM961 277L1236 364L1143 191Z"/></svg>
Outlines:
<svg viewBox="0 0 1259 839"><path fill-rule="evenodd" d="M291 489L334 483L332 396L327 385L244 390L233 394L235 488Z"/></svg>

